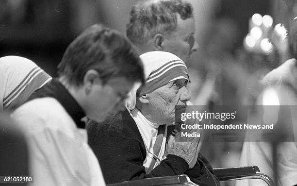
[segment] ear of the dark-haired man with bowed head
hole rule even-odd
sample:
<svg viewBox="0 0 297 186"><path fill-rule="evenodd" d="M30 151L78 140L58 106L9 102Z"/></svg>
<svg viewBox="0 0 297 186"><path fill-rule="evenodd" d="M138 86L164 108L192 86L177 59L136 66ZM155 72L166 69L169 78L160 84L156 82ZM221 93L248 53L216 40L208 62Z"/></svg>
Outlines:
<svg viewBox="0 0 297 186"><path fill-rule="evenodd" d="M99 72L94 69L89 69L83 77L83 87L85 88L85 93L89 94L95 84L102 85Z"/></svg>

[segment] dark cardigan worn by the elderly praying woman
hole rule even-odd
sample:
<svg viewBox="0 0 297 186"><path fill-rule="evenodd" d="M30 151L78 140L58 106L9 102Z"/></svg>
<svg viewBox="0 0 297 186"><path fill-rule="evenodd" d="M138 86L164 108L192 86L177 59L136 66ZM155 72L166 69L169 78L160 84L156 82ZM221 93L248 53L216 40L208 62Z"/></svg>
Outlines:
<svg viewBox="0 0 297 186"><path fill-rule="evenodd" d="M146 174L143 166L147 155L145 144L127 110L117 112L103 123L90 121L87 131L89 145L99 160L106 184L187 174L199 186L219 186L212 169L205 166L200 154L193 169L188 169L187 162L181 157L168 154L160 165Z"/></svg>

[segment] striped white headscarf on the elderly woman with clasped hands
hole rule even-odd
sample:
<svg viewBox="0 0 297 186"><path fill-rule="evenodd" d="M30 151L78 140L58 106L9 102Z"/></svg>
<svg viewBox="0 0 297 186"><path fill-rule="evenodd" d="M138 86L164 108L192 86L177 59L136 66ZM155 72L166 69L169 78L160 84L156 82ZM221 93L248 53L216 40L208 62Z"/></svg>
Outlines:
<svg viewBox="0 0 297 186"><path fill-rule="evenodd" d="M176 55L165 51L149 51L139 56L143 62L146 83L135 85L126 100L129 110L135 108L137 96L142 96L177 79L188 79L184 62Z"/></svg>

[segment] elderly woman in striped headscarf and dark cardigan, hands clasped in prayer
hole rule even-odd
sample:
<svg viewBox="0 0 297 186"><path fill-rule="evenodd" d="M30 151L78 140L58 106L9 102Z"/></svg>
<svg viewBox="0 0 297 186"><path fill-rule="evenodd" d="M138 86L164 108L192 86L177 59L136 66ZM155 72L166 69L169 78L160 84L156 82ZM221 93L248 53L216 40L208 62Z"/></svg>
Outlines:
<svg viewBox="0 0 297 186"><path fill-rule="evenodd" d="M188 71L176 55L151 51L140 55L146 84L135 92L131 111L118 111L104 122L88 123L89 144L107 184L187 174L201 186L219 185L198 157L201 139L175 142L175 109L186 106ZM175 134L175 135L179 135Z"/></svg>

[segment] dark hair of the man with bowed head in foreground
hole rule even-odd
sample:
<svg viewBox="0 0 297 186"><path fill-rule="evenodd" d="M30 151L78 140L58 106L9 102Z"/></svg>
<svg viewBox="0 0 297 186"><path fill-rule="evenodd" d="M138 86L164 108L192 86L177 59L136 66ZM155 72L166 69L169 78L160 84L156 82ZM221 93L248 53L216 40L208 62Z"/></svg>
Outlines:
<svg viewBox="0 0 297 186"><path fill-rule="evenodd" d="M81 85L90 69L99 72L103 83L113 77L145 81L141 59L132 43L103 25L91 26L70 43L58 65L58 75L69 84Z"/></svg>

